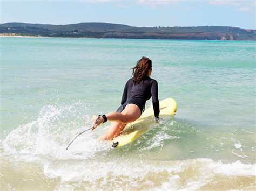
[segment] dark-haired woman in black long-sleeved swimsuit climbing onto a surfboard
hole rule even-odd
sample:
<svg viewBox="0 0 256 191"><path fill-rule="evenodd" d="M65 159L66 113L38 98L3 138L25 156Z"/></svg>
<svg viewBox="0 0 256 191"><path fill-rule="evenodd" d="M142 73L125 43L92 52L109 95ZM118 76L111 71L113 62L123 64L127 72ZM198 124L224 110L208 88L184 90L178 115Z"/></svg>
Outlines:
<svg viewBox="0 0 256 191"><path fill-rule="evenodd" d="M127 123L133 122L142 115L146 101L152 96L154 117L158 120L159 100L157 81L150 78L152 61L142 57L137 65L132 68L132 78L124 88L121 106L116 112L92 117L92 130L107 120L113 121L109 130L99 140L111 140L120 135Z"/></svg>

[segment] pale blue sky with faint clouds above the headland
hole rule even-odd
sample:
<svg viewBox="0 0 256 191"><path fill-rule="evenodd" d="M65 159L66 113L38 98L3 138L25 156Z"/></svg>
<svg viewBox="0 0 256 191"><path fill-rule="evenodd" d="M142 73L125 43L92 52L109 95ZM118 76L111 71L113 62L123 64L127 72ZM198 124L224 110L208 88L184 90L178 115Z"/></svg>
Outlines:
<svg viewBox="0 0 256 191"><path fill-rule="evenodd" d="M0 23L104 22L138 27L208 25L256 28L256 0L0 0L0 6Z"/></svg>

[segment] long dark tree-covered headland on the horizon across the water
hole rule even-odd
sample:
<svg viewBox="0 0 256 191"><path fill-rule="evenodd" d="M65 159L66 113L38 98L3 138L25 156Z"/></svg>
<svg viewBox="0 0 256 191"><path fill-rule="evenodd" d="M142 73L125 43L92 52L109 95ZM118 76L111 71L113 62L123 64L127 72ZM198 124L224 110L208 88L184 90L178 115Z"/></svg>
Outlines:
<svg viewBox="0 0 256 191"><path fill-rule="evenodd" d="M230 26L134 27L112 23L68 25L4 23L0 36L179 39L179 40L256 40L256 30Z"/></svg>

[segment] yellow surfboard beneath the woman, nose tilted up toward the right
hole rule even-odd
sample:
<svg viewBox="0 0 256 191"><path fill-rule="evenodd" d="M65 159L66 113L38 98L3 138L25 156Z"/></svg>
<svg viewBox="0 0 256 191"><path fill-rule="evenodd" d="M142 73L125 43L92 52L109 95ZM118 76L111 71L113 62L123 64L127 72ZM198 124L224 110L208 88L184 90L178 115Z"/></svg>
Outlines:
<svg viewBox="0 0 256 191"><path fill-rule="evenodd" d="M174 115L177 110L177 102L171 97L160 101L159 104L160 117ZM156 124L156 122L154 119L153 105L151 105L142 113L140 118L132 123L127 124L122 134L111 141L111 145L117 142L118 144L116 147L126 145L127 143L130 143L134 139L143 135L147 130L150 129L150 126L153 124Z"/></svg>

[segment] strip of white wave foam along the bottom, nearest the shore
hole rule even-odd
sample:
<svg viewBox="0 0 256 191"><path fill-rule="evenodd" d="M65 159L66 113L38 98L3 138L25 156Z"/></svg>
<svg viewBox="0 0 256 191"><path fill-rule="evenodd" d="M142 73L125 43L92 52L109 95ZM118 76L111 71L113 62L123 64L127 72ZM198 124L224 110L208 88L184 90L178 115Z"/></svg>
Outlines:
<svg viewBox="0 0 256 191"><path fill-rule="evenodd" d="M197 173L186 175L185 171L193 168ZM255 164L246 165L240 161L230 164L214 162L211 159L192 159L184 161L159 162L150 164L149 161L143 163L138 161L112 160L107 162L80 162L77 164L63 164L61 167L45 165L44 173L48 176L60 177L62 181L89 181L94 182L104 179L106 183L110 180L124 178L126 182L139 182L147 179L150 174L167 172L169 181L163 182L161 188L179 188L196 190L218 175L227 176L255 176ZM184 174L185 173L185 174ZM181 177L180 177L181 176ZM186 184L182 183L187 176ZM190 178L188 178L190 177ZM181 181L183 179L183 181ZM150 181L150 180L149 180Z"/></svg>

